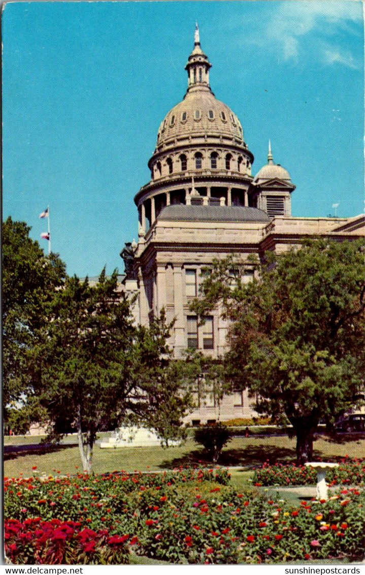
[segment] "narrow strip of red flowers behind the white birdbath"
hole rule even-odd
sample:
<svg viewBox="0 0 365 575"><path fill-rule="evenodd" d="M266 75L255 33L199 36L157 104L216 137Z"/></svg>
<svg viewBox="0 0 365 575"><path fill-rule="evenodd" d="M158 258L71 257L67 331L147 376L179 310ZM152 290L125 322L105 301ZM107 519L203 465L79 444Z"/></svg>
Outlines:
<svg viewBox="0 0 365 575"><path fill-rule="evenodd" d="M339 461L339 467L326 472L326 482L329 485L365 485L365 459L344 458ZM268 465L264 463L255 470L253 483L268 485L315 485L317 471L313 467L296 465Z"/></svg>

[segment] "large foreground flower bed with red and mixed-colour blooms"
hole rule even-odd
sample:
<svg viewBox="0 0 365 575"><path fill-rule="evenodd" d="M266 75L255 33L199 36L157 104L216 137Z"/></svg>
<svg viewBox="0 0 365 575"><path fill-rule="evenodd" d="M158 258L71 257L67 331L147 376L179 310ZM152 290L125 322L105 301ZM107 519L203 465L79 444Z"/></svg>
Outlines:
<svg viewBox="0 0 365 575"><path fill-rule="evenodd" d="M362 490L345 488L328 501L292 507L257 489L237 493L227 483L224 469L7 479L7 557L15 563L122 563L130 545L139 555L172 563L275 563L362 553ZM43 538L47 545L37 547Z"/></svg>

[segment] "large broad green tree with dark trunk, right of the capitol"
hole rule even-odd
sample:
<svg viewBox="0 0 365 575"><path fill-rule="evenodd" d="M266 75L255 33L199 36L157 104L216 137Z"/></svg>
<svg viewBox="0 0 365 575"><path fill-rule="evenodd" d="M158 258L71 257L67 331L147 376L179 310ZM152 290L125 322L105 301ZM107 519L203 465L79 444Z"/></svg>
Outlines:
<svg viewBox="0 0 365 575"><path fill-rule="evenodd" d="M259 281L245 284L233 257L214 262L193 308L203 316L221 306L226 385L259 394L258 411L286 415L303 463L320 419L333 423L364 385L363 241L308 241L256 264Z"/></svg>

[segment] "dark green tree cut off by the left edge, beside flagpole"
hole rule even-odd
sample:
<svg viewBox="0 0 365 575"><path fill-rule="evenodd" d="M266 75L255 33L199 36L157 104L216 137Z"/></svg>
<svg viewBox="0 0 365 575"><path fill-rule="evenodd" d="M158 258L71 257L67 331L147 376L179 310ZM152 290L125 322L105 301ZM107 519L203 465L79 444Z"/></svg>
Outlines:
<svg viewBox="0 0 365 575"><path fill-rule="evenodd" d="M28 350L47 324L55 290L66 267L56 254L45 256L24 222L2 225L3 404L25 400L29 392ZM29 414L30 415L30 414Z"/></svg>

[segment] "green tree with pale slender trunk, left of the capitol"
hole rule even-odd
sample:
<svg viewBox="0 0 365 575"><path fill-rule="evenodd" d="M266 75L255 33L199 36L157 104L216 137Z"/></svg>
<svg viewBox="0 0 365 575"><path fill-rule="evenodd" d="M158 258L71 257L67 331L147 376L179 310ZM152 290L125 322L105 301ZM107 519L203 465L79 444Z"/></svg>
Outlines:
<svg viewBox="0 0 365 575"><path fill-rule="evenodd" d="M189 404L182 362L172 362L164 312L149 329L135 327L117 273L97 285L76 276L53 302L52 320L34 348L33 385L59 438L74 425L83 469L91 472L97 432L133 422L167 442L181 434ZM187 378L189 379L189 378ZM186 379L186 381L187 381Z"/></svg>

